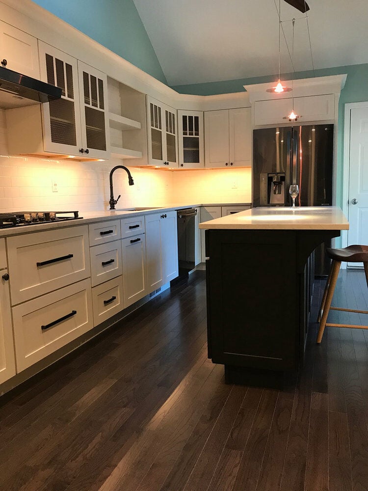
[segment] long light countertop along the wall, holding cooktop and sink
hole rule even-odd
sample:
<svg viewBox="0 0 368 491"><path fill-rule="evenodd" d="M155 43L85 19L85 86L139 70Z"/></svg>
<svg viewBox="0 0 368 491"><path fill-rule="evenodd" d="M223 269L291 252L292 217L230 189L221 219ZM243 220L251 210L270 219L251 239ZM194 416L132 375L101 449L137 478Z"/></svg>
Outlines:
<svg viewBox="0 0 368 491"><path fill-rule="evenodd" d="M151 213L160 213L162 211L181 210L183 208L192 208L200 206L250 206L251 203L170 203L167 206L156 207L131 207L117 210L103 210L103 211L79 211L78 219L56 221L49 223L37 223L35 225L22 225L13 228L0 228L0 237L10 237L12 235L29 234L33 232L40 232L42 230L53 230L55 228L73 227L77 225L85 225L88 223L107 221L120 218L128 218L134 216L148 215ZM53 210L57 211L57 210Z"/></svg>

